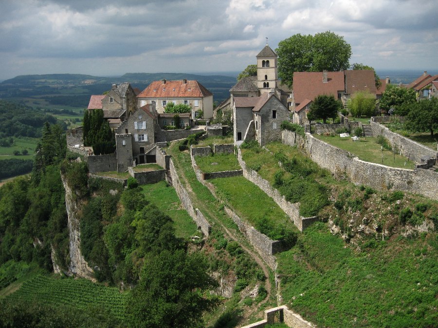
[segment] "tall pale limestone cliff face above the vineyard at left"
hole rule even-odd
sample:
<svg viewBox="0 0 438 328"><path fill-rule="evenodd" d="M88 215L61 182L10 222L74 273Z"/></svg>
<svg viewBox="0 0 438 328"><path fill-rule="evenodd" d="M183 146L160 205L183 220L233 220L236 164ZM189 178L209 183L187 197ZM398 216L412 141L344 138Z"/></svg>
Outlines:
<svg viewBox="0 0 438 328"><path fill-rule="evenodd" d="M95 280L93 277L93 270L88 265L87 261L84 259L80 249L80 230L79 230L79 219L77 216L80 204L75 201L73 197L74 190L71 190L67 184L65 177L61 174L62 183L65 189L65 206L67 208L68 215L68 228L70 236L70 271L75 276L81 278L87 278ZM55 266L54 266L55 270Z"/></svg>

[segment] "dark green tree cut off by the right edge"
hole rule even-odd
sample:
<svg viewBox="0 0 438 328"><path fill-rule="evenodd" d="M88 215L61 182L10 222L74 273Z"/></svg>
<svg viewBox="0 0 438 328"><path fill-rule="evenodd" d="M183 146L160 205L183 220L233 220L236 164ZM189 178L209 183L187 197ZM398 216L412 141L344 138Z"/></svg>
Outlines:
<svg viewBox="0 0 438 328"><path fill-rule="evenodd" d="M430 132L433 136L438 131L438 98L423 99L413 104L407 115L406 127L415 132Z"/></svg>

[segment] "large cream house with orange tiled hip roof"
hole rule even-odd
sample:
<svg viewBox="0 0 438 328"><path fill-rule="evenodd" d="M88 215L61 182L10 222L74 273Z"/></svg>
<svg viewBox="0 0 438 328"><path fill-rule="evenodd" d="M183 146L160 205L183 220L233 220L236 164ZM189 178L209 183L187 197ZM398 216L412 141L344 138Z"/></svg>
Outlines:
<svg viewBox="0 0 438 328"><path fill-rule="evenodd" d="M213 118L213 94L198 81L154 81L137 95L139 107L155 104L159 114L169 103L185 104L191 107L191 116L197 118L203 113L204 119Z"/></svg>

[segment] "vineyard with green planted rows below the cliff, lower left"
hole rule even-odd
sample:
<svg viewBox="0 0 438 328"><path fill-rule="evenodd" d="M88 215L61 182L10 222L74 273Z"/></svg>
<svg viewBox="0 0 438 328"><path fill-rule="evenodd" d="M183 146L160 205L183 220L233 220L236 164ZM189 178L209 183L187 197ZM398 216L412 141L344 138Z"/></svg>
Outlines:
<svg viewBox="0 0 438 328"><path fill-rule="evenodd" d="M44 302L55 306L72 306L88 311L90 307L103 307L119 319L125 318L128 292L105 287L86 279L55 278L37 275L26 280L15 293L6 296L18 301Z"/></svg>

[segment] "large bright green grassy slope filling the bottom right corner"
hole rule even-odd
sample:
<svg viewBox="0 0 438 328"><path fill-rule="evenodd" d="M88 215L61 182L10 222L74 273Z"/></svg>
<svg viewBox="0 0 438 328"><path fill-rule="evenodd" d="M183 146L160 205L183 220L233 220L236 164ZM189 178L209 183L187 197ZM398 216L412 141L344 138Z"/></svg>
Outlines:
<svg viewBox="0 0 438 328"><path fill-rule="evenodd" d="M437 234L355 253L316 223L278 254L284 302L321 327L436 327Z"/></svg>

